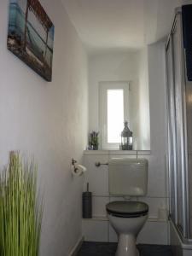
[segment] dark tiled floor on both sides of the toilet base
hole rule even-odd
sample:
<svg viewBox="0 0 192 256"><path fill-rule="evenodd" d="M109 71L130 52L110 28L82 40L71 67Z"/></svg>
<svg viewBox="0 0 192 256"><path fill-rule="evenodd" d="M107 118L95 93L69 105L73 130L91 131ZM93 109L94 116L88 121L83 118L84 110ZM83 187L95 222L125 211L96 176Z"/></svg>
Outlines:
<svg viewBox="0 0 192 256"><path fill-rule="evenodd" d="M78 256L114 256L117 243L84 241ZM140 256L172 256L170 246L139 244Z"/></svg>

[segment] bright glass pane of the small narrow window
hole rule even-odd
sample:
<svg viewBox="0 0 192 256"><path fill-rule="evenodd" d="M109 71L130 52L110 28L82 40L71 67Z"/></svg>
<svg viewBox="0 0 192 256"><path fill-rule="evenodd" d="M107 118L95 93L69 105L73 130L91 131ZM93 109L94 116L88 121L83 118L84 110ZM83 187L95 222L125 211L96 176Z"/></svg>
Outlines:
<svg viewBox="0 0 192 256"><path fill-rule="evenodd" d="M124 124L124 91L108 90L108 143L119 143Z"/></svg>

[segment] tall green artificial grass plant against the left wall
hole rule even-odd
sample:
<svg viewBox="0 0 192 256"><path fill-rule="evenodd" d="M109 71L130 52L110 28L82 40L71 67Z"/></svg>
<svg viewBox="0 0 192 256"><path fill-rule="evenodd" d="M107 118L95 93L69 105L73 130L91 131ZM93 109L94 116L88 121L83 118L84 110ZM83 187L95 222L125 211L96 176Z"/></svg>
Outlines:
<svg viewBox="0 0 192 256"><path fill-rule="evenodd" d="M37 166L11 152L0 178L0 255L38 256L42 216Z"/></svg>

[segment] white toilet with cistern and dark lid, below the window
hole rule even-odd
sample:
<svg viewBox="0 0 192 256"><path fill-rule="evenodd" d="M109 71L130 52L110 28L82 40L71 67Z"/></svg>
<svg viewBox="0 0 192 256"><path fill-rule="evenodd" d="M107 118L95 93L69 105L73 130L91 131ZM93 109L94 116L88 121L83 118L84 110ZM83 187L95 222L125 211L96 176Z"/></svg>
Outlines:
<svg viewBox="0 0 192 256"><path fill-rule="evenodd" d="M108 178L109 194L125 197L125 201L106 205L108 220L118 235L115 256L139 256L136 239L148 218L148 205L131 201L131 196L147 194L148 160L112 159L108 163Z"/></svg>

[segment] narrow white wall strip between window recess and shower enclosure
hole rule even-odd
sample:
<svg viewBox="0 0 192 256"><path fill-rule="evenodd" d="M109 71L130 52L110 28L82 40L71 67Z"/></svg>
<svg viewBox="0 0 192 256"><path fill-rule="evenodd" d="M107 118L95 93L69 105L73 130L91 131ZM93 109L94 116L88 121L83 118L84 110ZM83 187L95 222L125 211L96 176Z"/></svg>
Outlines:
<svg viewBox="0 0 192 256"><path fill-rule="evenodd" d="M166 198L167 189L167 125L166 125L166 61L165 43L148 46L148 85L150 105L151 155L150 168L153 196ZM150 183L149 183L150 185Z"/></svg>

